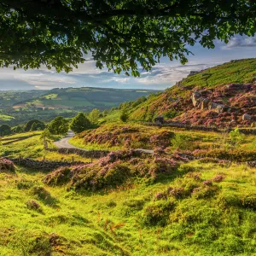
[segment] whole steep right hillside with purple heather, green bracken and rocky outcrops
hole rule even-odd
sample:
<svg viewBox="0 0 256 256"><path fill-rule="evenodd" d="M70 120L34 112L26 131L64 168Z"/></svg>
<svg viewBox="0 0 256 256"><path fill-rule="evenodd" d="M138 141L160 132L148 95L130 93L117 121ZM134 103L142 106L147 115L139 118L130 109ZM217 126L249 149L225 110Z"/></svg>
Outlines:
<svg viewBox="0 0 256 256"><path fill-rule="evenodd" d="M256 59L230 61L189 75L136 108L130 119L191 125L252 125L256 121Z"/></svg>

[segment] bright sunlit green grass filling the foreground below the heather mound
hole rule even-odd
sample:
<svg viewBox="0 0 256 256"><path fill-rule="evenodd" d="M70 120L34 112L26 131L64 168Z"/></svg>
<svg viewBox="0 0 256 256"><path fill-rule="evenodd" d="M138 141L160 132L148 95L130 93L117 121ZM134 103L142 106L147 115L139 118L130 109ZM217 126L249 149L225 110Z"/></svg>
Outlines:
<svg viewBox="0 0 256 256"><path fill-rule="evenodd" d="M205 198L153 200L169 186L192 185L188 171L201 172L202 180L219 173L225 178ZM45 186L41 172L2 173L0 255L253 255L256 212L237 201L251 195L256 207L255 173L247 166L195 161L159 183L84 195ZM38 186L44 186L40 193ZM28 200L42 211L28 209ZM168 201L172 210L165 208ZM159 216L165 226L151 223Z"/></svg>

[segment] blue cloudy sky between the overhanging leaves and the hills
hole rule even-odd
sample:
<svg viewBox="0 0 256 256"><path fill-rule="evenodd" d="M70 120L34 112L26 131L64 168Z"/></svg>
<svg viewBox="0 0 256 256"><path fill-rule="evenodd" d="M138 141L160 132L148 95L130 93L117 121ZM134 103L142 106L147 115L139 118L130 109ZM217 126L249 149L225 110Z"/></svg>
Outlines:
<svg viewBox="0 0 256 256"><path fill-rule="evenodd" d="M12 67L0 68L0 90L49 90L65 87L105 87L119 89L165 90L186 77L190 71L198 71L222 64L227 61L255 58L256 38L236 36L228 44L215 42L215 49L204 49L200 44L189 47L194 55L189 62L181 65L178 61L161 58L160 63L150 72L141 70L140 78L114 74L107 69L99 69L95 61L85 61L72 73L56 73L47 70L13 70Z"/></svg>

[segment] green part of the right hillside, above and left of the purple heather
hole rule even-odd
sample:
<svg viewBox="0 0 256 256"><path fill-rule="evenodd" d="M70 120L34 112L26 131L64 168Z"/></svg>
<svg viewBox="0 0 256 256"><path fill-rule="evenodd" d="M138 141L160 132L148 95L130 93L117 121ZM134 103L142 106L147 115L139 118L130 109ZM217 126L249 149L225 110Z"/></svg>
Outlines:
<svg viewBox="0 0 256 256"><path fill-rule="evenodd" d="M223 84L251 83L256 76L255 70L256 59L231 61L189 76L187 79L182 80L180 86L191 85L199 88L214 88ZM151 96L146 102L137 106L137 108L132 108L130 110L130 119L151 120L155 115L162 113L169 113L172 117L172 109L168 108L171 104L170 98L188 99L190 95L191 89L179 90L180 86L174 85L159 96Z"/></svg>

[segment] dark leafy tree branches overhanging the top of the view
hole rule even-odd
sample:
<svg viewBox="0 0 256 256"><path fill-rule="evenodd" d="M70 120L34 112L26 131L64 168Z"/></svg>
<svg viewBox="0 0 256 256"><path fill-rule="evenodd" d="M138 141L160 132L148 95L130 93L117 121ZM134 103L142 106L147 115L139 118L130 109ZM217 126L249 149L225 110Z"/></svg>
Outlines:
<svg viewBox="0 0 256 256"><path fill-rule="evenodd" d="M70 72L91 53L138 76L161 56L185 63L196 41L253 36L255 13L253 0L0 0L0 66Z"/></svg>

